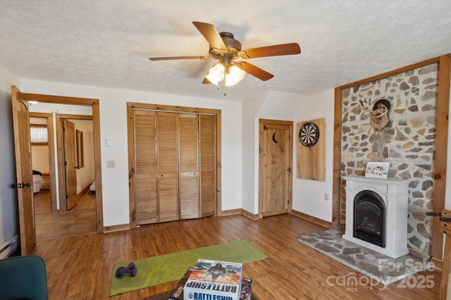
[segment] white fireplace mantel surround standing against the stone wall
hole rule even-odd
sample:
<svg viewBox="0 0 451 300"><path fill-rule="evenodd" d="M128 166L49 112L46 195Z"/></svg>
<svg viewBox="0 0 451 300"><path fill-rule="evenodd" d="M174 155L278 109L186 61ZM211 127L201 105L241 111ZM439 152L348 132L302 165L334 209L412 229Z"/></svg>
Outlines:
<svg viewBox="0 0 451 300"><path fill-rule="evenodd" d="M343 239L392 258L407 249L409 181L345 176L346 227Z"/></svg>

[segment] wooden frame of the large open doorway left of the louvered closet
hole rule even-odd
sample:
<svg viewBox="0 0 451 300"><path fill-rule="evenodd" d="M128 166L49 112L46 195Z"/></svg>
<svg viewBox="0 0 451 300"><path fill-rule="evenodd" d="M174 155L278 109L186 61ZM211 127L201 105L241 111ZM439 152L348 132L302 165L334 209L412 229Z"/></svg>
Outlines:
<svg viewBox="0 0 451 300"><path fill-rule="evenodd" d="M12 89L17 89L16 86L11 86ZM78 98L70 96L54 96L46 94L29 94L18 92L18 99L23 101L38 101L42 103L51 104L73 104L80 106L92 107L92 127L94 135L94 173L96 183L96 218L97 218L97 233L104 232L104 216L102 203L102 185L101 185L101 141L100 141L100 109L99 99ZM74 115L70 115L74 116ZM30 117L30 116L29 116ZM58 128L58 126L57 126ZM53 168L56 166L54 165ZM51 166L52 168L52 166ZM51 171L52 172L52 171ZM55 172L55 169L53 170ZM54 179L54 178L52 178ZM61 182L60 182L61 185ZM61 199L60 199L61 201ZM61 206L60 206L61 207ZM23 215L19 213L19 219Z"/></svg>

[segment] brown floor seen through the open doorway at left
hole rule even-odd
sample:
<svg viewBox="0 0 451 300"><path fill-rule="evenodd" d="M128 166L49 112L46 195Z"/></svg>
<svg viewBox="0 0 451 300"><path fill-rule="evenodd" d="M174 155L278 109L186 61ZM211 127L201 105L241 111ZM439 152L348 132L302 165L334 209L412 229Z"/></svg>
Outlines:
<svg viewBox="0 0 451 300"><path fill-rule="evenodd" d="M51 213L49 190L34 194L33 203L37 241L97 233L95 194L86 192L66 213Z"/></svg>

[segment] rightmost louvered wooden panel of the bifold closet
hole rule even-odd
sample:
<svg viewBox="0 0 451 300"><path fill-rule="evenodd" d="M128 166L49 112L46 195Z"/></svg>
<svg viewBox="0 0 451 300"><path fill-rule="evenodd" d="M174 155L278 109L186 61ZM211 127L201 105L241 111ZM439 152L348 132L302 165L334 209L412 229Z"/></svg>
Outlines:
<svg viewBox="0 0 451 300"><path fill-rule="evenodd" d="M201 217L216 214L216 116L199 115Z"/></svg>

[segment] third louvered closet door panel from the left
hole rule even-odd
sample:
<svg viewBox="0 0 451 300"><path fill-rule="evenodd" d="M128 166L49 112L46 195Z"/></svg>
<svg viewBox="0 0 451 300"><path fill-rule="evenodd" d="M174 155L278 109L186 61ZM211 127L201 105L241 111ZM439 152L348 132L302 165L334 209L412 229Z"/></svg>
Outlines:
<svg viewBox="0 0 451 300"><path fill-rule="evenodd" d="M179 113L180 220L199 218L199 159L196 113Z"/></svg>

